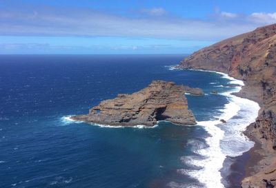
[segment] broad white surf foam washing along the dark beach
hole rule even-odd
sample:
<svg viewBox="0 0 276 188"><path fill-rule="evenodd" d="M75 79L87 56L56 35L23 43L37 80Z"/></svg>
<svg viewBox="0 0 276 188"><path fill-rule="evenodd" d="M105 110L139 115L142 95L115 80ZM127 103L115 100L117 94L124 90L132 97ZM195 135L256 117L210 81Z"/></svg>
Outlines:
<svg viewBox="0 0 276 188"><path fill-rule="evenodd" d="M210 137L206 138L206 143L209 147L199 148L195 152L195 154L206 158L182 158L181 160L184 163L200 167L200 169L182 169L181 173L196 178L206 187L223 188L224 185L221 183L222 177L219 170L223 167L226 156L239 156L243 152L248 151L250 147L253 147L253 143L242 132L250 123L255 121L259 111L259 105L248 99L231 94L233 92L239 92L242 89L244 85L242 81L238 81L221 72L215 73L221 74L225 79L229 80L229 83L239 86L233 87L228 92L221 93L228 98L229 103L221 109L222 114L220 116L215 116L213 121L197 122L197 125L204 127L208 134L210 134ZM241 116L242 118L233 118L234 116ZM221 119L224 119L226 123L221 123Z"/></svg>

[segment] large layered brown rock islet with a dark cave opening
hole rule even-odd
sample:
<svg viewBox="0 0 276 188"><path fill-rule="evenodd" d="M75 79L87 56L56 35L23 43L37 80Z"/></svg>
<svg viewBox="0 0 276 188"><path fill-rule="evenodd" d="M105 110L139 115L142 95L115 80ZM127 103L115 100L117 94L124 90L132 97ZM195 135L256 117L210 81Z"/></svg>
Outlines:
<svg viewBox="0 0 276 188"><path fill-rule="evenodd" d="M156 125L170 121L179 125L195 125L188 109L184 86L173 82L152 81L148 87L133 94L118 94L117 98L102 101L89 114L72 119L101 125Z"/></svg>

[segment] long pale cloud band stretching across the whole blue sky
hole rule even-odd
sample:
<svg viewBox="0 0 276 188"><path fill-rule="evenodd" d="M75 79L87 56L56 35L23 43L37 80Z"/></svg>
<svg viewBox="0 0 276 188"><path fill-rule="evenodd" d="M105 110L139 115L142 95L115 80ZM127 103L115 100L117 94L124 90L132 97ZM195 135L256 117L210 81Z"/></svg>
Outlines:
<svg viewBox="0 0 276 188"><path fill-rule="evenodd" d="M145 11L148 17L123 17L84 8L0 10L0 35L124 36L218 41L275 22L275 13L241 16L221 12L215 14L213 19L186 19L171 17L163 8Z"/></svg>

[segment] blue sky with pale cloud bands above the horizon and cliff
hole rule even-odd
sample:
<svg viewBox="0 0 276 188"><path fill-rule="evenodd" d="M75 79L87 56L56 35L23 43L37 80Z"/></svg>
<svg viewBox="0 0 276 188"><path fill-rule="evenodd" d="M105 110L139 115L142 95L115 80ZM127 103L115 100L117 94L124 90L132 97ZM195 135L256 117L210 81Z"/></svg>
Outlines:
<svg viewBox="0 0 276 188"><path fill-rule="evenodd" d="M0 0L0 54L190 54L273 23L275 0Z"/></svg>

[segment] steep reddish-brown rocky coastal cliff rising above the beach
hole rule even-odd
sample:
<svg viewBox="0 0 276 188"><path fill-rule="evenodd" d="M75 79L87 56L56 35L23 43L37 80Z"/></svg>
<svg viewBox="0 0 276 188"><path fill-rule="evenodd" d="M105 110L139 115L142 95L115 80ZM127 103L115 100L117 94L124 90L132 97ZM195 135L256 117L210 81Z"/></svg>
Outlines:
<svg viewBox="0 0 276 188"><path fill-rule="evenodd" d="M262 107L247 134L262 144L255 151L264 159L242 187L269 187L276 183L276 24L257 28L215 43L188 56L179 67L224 72L242 79L239 96L257 101ZM273 159L274 158L274 159ZM263 180L264 179L264 180Z"/></svg>

